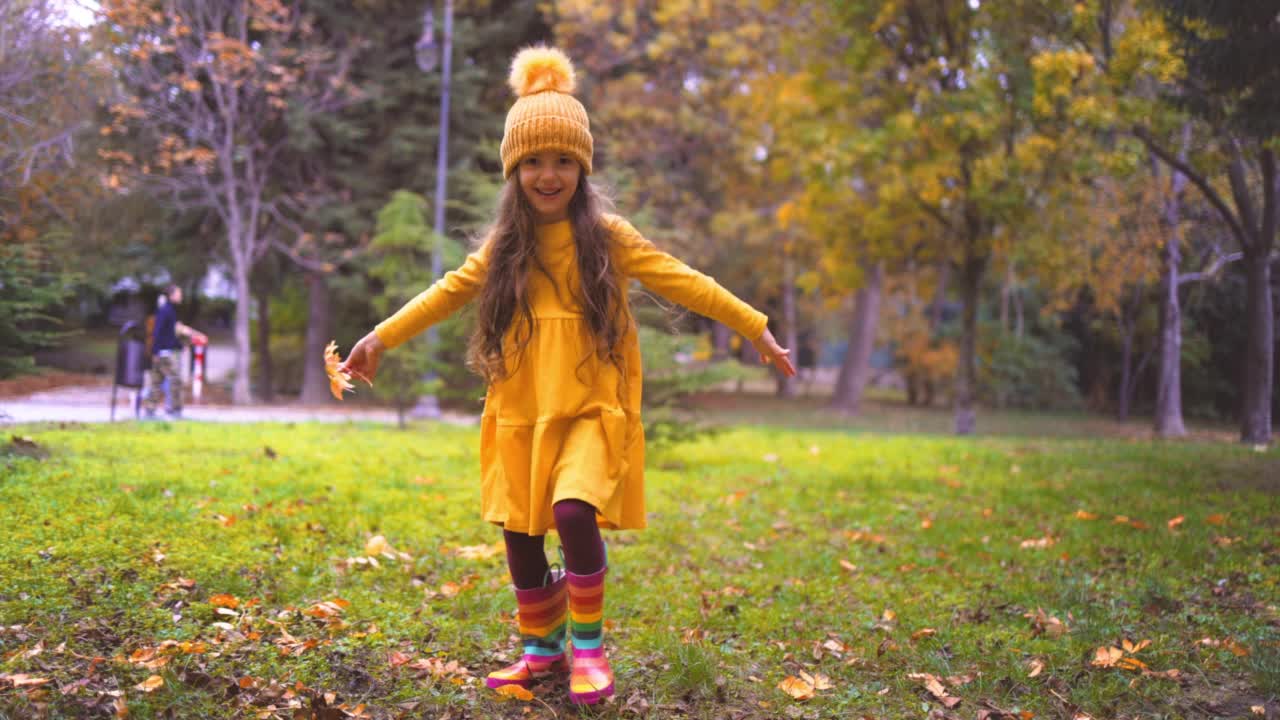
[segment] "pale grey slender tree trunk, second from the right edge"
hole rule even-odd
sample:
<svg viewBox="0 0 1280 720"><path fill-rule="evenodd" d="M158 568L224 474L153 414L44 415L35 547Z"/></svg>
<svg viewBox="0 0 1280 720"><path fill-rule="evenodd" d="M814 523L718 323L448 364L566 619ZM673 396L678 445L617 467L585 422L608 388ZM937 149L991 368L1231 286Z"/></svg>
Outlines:
<svg viewBox="0 0 1280 720"><path fill-rule="evenodd" d="M1183 135L1185 156L1185 131ZM1160 300L1160 379L1156 386L1156 434L1160 437L1187 434L1187 425L1183 424L1183 309L1178 301L1181 270L1180 195L1185 182L1187 176L1175 170L1165 200L1165 283Z"/></svg>

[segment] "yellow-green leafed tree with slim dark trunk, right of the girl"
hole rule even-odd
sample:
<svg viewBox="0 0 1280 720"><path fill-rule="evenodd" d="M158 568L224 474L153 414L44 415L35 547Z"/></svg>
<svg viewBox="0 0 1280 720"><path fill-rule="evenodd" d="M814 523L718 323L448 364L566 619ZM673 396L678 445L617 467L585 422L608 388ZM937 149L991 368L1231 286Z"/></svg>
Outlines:
<svg viewBox="0 0 1280 720"><path fill-rule="evenodd" d="M978 305L1001 249L1053 242L1043 209L1087 170L1085 138L1066 120L1087 101L1092 67L1068 41L1065 4L883 3L872 26L893 60L883 85L888 137L882 201L931 218L928 242L959 281L961 332L955 429L975 429ZM1069 205L1064 205L1064 202ZM1007 252L1007 250L1005 250Z"/></svg>

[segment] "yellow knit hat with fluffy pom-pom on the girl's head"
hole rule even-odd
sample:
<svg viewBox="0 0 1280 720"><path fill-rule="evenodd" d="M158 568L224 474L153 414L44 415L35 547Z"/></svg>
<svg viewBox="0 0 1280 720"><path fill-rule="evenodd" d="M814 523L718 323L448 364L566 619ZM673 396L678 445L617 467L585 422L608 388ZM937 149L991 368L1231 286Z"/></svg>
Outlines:
<svg viewBox="0 0 1280 720"><path fill-rule="evenodd" d="M507 79L518 96L502 136L502 176L521 159L544 150L572 155L591 174L591 124L573 92L573 64L554 47L521 50Z"/></svg>

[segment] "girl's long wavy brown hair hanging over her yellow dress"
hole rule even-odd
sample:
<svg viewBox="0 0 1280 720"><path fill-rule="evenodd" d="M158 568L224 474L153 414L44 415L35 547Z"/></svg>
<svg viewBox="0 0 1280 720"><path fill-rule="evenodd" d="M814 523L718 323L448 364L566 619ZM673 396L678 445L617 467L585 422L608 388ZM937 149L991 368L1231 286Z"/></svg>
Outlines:
<svg viewBox="0 0 1280 720"><path fill-rule="evenodd" d="M614 272L612 243L603 205L608 201L581 174L568 202L568 219L577 247L579 305L595 345L595 356L623 368L620 346L630 325L622 287ZM529 274L539 270L556 283L538 259L535 214L512 173L498 200L498 215L485 233L489 242L488 277L476 302L476 329L467 364L489 383L507 377L507 357L518 366L534 331L529 304ZM504 347L512 332L513 347ZM581 363L590 360L582 357ZM579 365L581 366L581 364ZM625 373L623 373L625 374Z"/></svg>

